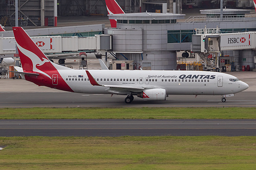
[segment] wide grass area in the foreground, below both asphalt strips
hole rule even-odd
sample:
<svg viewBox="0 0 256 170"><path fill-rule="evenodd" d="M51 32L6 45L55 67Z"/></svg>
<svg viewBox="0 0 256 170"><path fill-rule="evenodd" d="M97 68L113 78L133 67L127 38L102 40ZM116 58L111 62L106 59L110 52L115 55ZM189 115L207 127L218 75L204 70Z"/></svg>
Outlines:
<svg viewBox="0 0 256 170"><path fill-rule="evenodd" d="M255 169L256 137L0 137L0 169Z"/></svg>

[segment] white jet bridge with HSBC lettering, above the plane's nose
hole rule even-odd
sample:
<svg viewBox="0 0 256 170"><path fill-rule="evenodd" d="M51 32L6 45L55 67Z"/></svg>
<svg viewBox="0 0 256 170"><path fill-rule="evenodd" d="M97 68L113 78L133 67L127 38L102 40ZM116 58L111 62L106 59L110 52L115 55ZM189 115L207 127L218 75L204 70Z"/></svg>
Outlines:
<svg viewBox="0 0 256 170"><path fill-rule="evenodd" d="M219 28L196 29L196 34L192 35L191 52L202 59L205 70L219 70L221 51L256 49L256 32L221 34L219 30ZM253 57L256 61L256 57Z"/></svg>

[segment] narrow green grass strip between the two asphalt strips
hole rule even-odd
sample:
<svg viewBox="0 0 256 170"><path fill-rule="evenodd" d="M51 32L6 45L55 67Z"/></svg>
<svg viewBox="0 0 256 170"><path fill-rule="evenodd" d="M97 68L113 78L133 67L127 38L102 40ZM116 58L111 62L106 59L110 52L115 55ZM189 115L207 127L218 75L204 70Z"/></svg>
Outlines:
<svg viewBox="0 0 256 170"><path fill-rule="evenodd" d="M255 119L256 108L3 108L0 119Z"/></svg>

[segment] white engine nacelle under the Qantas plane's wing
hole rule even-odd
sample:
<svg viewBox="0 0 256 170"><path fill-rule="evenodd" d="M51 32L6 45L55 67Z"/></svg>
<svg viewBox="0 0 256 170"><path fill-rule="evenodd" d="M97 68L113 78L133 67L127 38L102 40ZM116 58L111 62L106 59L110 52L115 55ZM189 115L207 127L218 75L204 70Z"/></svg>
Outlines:
<svg viewBox="0 0 256 170"><path fill-rule="evenodd" d="M141 93L137 94L139 98L143 98L146 101L165 101L166 100L166 89L163 88L153 88L143 90Z"/></svg>

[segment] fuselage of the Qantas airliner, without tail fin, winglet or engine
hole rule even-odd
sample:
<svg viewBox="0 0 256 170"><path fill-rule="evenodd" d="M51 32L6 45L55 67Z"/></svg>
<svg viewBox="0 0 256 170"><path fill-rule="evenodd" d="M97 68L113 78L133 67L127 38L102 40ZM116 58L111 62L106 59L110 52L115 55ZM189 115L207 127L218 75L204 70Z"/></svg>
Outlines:
<svg viewBox="0 0 256 170"><path fill-rule="evenodd" d="M248 85L234 76L220 72L208 71L176 71L176 70L89 70L95 81L99 84L118 86L137 86L147 88L163 88L167 94L198 94L198 95L224 95L240 92ZM73 92L80 93L115 93L109 87L92 86L85 70L58 70L60 76L52 75L52 82L30 80L37 85L44 85L60 90L63 88L59 82L65 81ZM46 72L47 74L47 72ZM51 74L49 74L51 75ZM41 80L40 77L33 78ZM245 88L246 87L246 88ZM133 92L139 92L134 90ZM116 94L122 94L116 93Z"/></svg>

